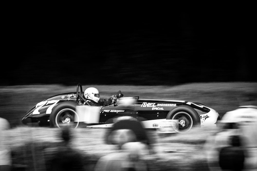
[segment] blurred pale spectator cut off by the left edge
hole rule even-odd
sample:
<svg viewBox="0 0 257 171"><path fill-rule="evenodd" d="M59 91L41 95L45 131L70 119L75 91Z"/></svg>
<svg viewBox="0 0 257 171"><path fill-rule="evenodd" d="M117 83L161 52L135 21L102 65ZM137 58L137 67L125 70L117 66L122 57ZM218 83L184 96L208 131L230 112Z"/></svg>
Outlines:
<svg viewBox="0 0 257 171"><path fill-rule="evenodd" d="M5 145L4 131L10 129L8 120L0 118L0 170L11 170L12 155L11 149Z"/></svg>

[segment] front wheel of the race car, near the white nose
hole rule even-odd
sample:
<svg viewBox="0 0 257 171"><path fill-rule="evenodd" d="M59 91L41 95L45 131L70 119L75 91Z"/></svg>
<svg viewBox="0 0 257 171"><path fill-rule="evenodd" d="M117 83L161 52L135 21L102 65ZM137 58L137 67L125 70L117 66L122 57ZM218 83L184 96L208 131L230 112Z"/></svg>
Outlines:
<svg viewBox="0 0 257 171"><path fill-rule="evenodd" d="M173 108L166 119L178 119L178 128L175 128L178 133L188 132L193 127L200 125L200 117L196 110L185 105Z"/></svg>

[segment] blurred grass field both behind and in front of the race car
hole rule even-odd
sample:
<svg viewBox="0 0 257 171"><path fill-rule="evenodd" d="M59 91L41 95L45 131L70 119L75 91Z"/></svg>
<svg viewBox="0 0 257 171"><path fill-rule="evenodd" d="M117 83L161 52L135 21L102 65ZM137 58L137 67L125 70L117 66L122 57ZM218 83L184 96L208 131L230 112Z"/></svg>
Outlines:
<svg viewBox="0 0 257 171"><path fill-rule="evenodd" d="M221 116L239 105L257 105L257 83L191 83L177 86L82 85L98 88L102 97L111 97L121 90L124 97L171 99L200 102L215 109ZM54 151L61 143L60 129L26 127L19 124L27 110L41 100L65 92L75 92L75 86L22 85L0 87L0 117L6 118L12 129L4 132L5 145L13 152L13 164L28 169L45 170L46 150ZM251 101L249 101L249 98ZM72 146L78 149L91 167L100 156L115 152L115 145L107 145L107 129L77 128L72 130ZM150 170L208 170L206 138L218 128L197 128L184 134L160 134L149 130L153 153L144 156Z"/></svg>

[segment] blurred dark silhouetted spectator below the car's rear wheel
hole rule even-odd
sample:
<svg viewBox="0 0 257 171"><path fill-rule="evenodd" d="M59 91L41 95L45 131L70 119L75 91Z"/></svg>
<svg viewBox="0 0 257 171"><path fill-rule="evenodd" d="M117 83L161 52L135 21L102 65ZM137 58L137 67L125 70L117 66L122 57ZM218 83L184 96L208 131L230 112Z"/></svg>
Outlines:
<svg viewBox="0 0 257 171"><path fill-rule="evenodd" d="M77 171L85 170L83 157L70 145L70 129L68 127L62 128L62 138L64 140L53 160L51 161L50 170L54 171Z"/></svg>

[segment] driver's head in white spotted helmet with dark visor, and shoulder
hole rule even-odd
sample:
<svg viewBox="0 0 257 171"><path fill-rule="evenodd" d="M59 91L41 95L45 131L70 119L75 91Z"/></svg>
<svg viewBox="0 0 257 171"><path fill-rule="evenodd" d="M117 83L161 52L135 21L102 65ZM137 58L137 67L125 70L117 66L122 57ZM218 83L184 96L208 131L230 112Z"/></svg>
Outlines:
<svg viewBox="0 0 257 171"><path fill-rule="evenodd" d="M98 89L96 89L95 87L89 87L85 90L84 92L84 97L86 99L86 102L90 105L90 106L102 106L100 103L98 103L99 99L100 99L100 94ZM85 102L85 103L86 103ZM85 104L84 103L84 104Z"/></svg>

